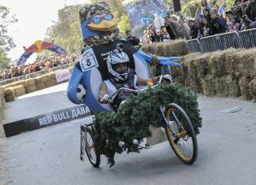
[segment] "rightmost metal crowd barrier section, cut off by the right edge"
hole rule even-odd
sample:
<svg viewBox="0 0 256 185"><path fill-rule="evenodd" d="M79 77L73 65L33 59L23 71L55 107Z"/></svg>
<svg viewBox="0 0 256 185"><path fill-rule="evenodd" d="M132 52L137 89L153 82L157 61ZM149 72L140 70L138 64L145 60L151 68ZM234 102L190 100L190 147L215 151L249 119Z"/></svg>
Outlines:
<svg viewBox="0 0 256 185"><path fill-rule="evenodd" d="M256 28L239 31L239 35L243 41L244 48L251 48L256 46Z"/></svg>

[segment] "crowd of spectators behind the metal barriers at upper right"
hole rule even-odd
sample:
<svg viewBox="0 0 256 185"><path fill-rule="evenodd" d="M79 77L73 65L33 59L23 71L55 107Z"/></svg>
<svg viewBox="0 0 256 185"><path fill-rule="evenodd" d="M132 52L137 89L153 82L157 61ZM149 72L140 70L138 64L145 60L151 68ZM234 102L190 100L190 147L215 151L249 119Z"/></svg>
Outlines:
<svg viewBox="0 0 256 185"><path fill-rule="evenodd" d="M235 0L232 9L220 11L207 0L201 0L201 13L194 18L169 14L161 17L164 24L149 24L139 45L164 42L169 39L200 39L225 32L256 28L256 0ZM221 13L220 13L221 12ZM127 39L128 40L128 39ZM133 38L134 40L134 38Z"/></svg>

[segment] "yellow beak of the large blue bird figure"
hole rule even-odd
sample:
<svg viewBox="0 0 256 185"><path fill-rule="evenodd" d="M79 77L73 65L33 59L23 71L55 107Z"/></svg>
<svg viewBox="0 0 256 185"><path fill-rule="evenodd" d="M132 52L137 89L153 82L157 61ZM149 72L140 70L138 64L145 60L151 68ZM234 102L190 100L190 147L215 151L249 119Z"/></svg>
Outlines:
<svg viewBox="0 0 256 185"><path fill-rule="evenodd" d="M92 22L91 24L88 24L88 28L96 31L111 31L114 30L116 24L117 20L115 17L113 17L111 20L102 20L100 24L95 24Z"/></svg>

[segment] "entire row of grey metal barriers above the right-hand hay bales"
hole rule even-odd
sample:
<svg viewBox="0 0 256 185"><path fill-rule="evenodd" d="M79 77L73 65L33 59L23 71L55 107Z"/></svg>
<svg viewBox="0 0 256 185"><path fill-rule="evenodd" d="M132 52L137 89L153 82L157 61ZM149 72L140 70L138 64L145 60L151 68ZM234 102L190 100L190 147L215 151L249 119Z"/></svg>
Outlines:
<svg viewBox="0 0 256 185"><path fill-rule="evenodd" d="M187 41L190 53L213 52L234 48L252 48L256 46L256 28L245 31L232 31L228 33L190 39Z"/></svg>

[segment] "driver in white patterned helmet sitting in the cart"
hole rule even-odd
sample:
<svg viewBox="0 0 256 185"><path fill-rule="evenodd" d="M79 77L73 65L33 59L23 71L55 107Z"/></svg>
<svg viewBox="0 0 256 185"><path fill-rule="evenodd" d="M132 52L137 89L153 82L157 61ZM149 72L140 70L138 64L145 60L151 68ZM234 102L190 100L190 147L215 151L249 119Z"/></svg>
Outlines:
<svg viewBox="0 0 256 185"><path fill-rule="evenodd" d="M130 59L128 55L122 51L122 45L117 45L117 49L107 57L107 70L110 76L108 80L104 80L100 86L100 94L98 100L100 103L108 103L110 98L108 94L114 94L121 87L137 90L137 85L146 86L148 79L137 76L133 68L130 68ZM152 83L156 84L156 77L152 79ZM111 106L115 111L119 108L122 101L129 96L128 92L119 92L111 99Z"/></svg>

